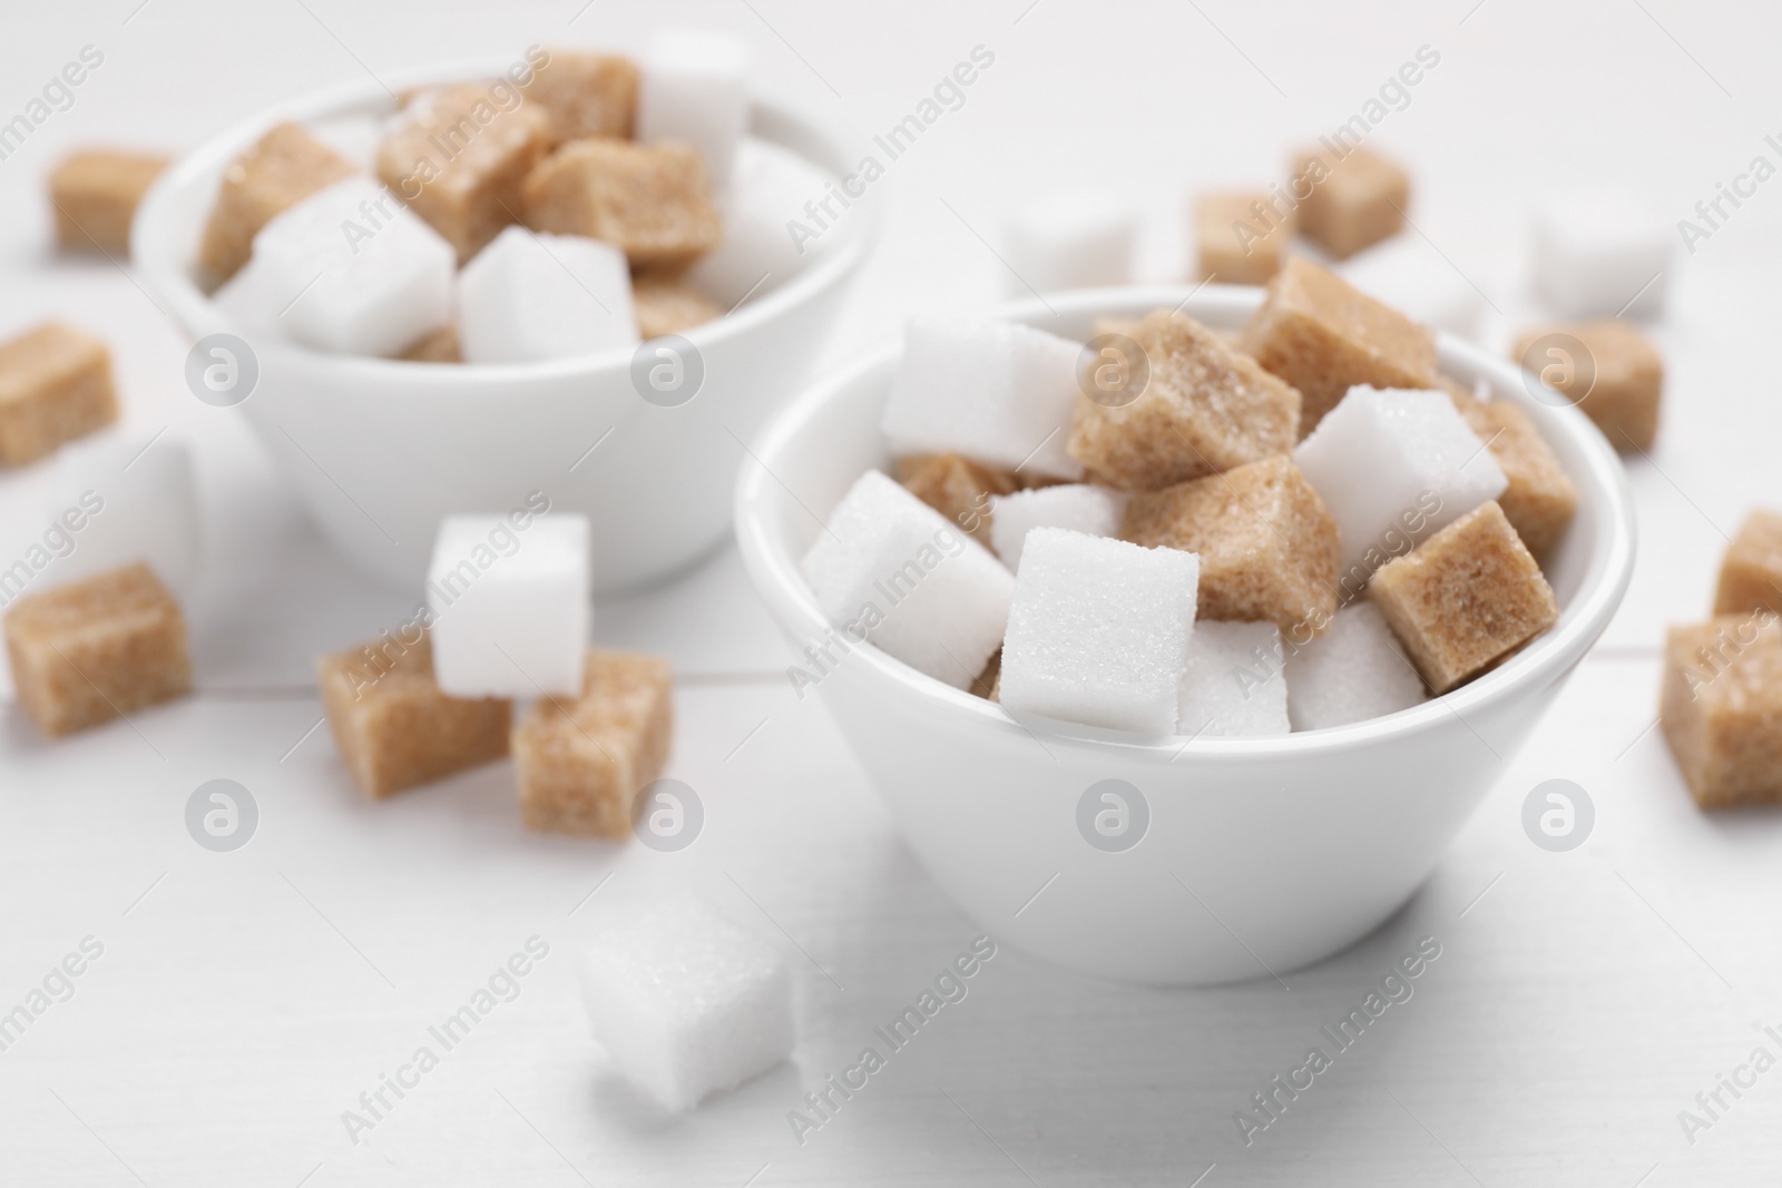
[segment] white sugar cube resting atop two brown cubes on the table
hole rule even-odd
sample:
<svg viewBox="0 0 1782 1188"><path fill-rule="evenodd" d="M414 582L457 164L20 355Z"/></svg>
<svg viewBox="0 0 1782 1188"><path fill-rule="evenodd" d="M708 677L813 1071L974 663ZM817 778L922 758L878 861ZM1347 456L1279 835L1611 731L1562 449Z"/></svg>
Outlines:
<svg viewBox="0 0 1782 1188"><path fill-rule="evenodd" d="M456 515L428 566L433 675L453 696L579 695L593 620L588 517Z"/></svg>

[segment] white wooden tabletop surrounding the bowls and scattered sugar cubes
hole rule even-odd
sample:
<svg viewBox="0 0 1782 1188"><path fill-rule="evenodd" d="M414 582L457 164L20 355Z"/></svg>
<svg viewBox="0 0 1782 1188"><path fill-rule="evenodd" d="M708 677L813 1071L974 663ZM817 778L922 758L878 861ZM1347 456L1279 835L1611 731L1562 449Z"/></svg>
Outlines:
<svg viewBox="0 0 1782 1188"><path fill-rule="evenodd" d="M1001 214L1083 178L1144 203L1144 274L1180 278L1185 194L1279 176L1297 141L1429 45L1440 66L1374 142L1415 171L1413 235L1488 294L1497 347L1540 313L1524 233L1543 191L1609 182L1684 217L1775 157L1782 12L1472 5L11 0L0 119L84 45L105 64L0 162L0 331L59 313L112 342L127 419L198 445L212 566L189 607L198 696L57 745L16 709L0 720L0 1008L82 937L105 946L75 997L0 1053L0 1183L1773 1181L1782 1070L1693 1143L1677 1113L1768 1042L1759 1022L1782 1029L1782 826L1696 812L1650 725L1664 623L1705 614L1727 534L1752 504L1782 504L1782 180L1672 276L1664 426L1629 467L1641 556L1620 616L1399 917L1290 989L1128 989L1005 948L804 1147L786 1111L977 928L898 842L816 702L789 695L734 554L597 614L602 643L661 650L681 673L670 775L707 810L691 850L526 834L506 764L365 803L326 730L307 734L310 661L413 597L328 554L244 424L185 392L187 344L127 276L48 249L41 182L62 150L178 151L367 69L709 23L750 39L764 89L852 123L864 151L984 45L994 68L889 171L882 249L834 338L811 344L834 363L911 312L1005 296L985 246ZM23 484L0 479L0 500ZM262 812L232 855L184 828L214 777ZM1595 834L1563 855L1520 826L1524 796L1556 777L1597 805ZM675 1120L608 1072L572 964L683 885L802 949L802 1038L791 1065ZM520 996L349 1143L342 1110L531 935L551 956ZM1424 935L1443 953L1415 997L1240 1145L1233 1111Z"/></svg>

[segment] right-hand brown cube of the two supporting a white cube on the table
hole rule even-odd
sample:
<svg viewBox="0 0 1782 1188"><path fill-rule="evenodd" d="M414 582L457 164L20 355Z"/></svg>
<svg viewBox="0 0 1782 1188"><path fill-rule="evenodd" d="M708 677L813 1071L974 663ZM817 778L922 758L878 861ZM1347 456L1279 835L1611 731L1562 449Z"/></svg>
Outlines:
<svg viewBox="0 0 1782 1188"><path fill-rule="evenodd" d="M629 837L638 793L668 761L668 661L590 650L583 680L581 696L538 698L513 730L520 818L535 830Z"/></svg>

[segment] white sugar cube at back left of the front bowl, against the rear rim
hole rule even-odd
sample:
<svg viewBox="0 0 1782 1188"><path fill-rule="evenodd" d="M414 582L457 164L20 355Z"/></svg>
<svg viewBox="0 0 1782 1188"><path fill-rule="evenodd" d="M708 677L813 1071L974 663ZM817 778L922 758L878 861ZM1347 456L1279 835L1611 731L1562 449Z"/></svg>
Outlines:
<svg viewBox="0 0 1782 1188"><path fill-rule="evenodd" d="M896 454L957 452L1080 479L1082 463L1064 451L1080 351L1032 326L914 317L880 427Z"/></svg>

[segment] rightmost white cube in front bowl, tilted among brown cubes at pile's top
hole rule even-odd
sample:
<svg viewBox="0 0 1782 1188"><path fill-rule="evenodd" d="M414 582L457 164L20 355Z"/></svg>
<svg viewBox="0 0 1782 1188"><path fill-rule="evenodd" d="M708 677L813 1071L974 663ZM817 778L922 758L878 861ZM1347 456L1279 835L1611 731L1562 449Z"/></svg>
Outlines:
<svg viewBox="0 0 1782 1188"><path fill-rule="evenodd" d="M1509 486L1447 392L1354 387L1294 451L1342 541L1345 593Z"/></svg>

